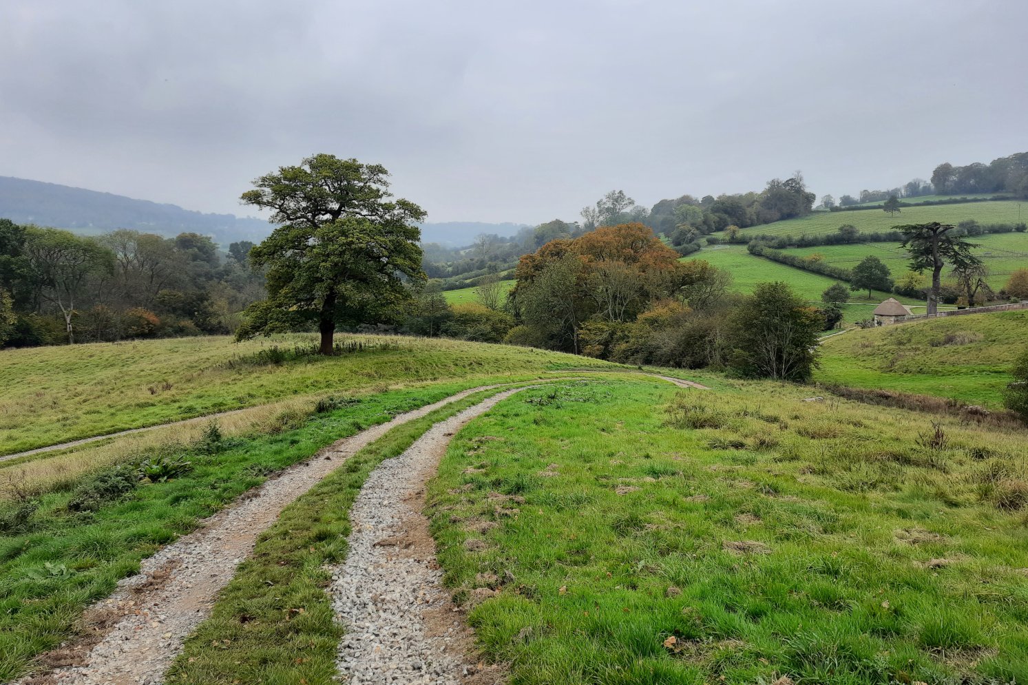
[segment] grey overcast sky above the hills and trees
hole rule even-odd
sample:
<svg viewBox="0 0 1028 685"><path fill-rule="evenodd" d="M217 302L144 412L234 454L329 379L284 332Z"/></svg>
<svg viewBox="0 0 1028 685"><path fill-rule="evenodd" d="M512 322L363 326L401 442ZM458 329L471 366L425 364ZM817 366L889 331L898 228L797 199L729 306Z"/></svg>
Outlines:
<svg viewBox="0 0 1028 685"><path fill-rule="evenodd" d="M430 221L855 194L1028 149L1028 2L3 0L0 176L252 214L315 152Z"/></svg>

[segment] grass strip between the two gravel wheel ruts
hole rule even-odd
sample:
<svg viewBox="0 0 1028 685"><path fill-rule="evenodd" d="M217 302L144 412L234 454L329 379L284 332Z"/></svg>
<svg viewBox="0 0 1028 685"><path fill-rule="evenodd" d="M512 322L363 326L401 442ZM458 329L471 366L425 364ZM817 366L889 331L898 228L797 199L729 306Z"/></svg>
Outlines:
<svg viewBox="0 0 1028 685"><path fill-rule="evenodd" d="M327 565L346 555L350 509L382 460L402 454L433 424L499 391L469 396L399 426L351 457L283 511L186 642L169 682L328 685L336 682L342 626L325 588Z"/></svg>

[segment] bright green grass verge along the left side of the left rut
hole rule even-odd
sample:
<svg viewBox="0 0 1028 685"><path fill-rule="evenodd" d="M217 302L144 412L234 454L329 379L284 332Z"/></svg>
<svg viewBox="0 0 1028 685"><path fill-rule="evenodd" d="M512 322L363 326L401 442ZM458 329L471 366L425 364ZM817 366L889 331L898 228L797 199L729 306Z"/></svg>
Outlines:
<svg viewBox="0 0 1028 685"><path fill-rule="evenodd" d="M268 474L393 416L479 385L441 384L286 416L272 434L176 450L190 462L164 482L138 484L119 465L37 499L0 503L0 682L72 634L82 609L136 573L145 556L263 482Z"/></svg>

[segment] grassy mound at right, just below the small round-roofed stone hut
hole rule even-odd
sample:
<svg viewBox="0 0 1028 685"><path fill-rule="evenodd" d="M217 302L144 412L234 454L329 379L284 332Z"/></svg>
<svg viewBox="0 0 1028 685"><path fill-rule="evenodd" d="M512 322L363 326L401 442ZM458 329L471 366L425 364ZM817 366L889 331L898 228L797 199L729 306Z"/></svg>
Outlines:
<svg viewBox="0 0 1028 685"><path fill-rule="evenodd" d="M1015 358L1028 349L1028 312L917 321L851 331L821 346L814 378L998 407Z"/></svg>

